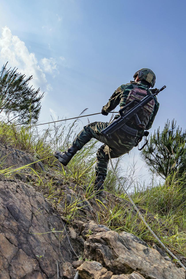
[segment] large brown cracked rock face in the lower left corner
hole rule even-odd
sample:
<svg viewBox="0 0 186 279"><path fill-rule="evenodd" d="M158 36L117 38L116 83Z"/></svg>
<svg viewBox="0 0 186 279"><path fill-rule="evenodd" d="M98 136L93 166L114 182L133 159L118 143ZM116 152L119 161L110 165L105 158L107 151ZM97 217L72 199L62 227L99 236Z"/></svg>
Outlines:
<svg viewBox="0 0 186 279"><path fill-rule="evenodd" d="M57 264L76 260L65 223L32 186L1 180L0 212L1 279L54 279ZM51 232L53 228L60 232ZM73 240L71 245L75 247Z"/></svg>

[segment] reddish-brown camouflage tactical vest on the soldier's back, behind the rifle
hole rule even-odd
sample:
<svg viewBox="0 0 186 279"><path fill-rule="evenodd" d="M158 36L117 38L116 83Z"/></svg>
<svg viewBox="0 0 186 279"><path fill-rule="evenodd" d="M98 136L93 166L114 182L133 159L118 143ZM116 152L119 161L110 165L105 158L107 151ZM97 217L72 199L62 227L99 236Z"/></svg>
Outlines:
<svg viewBox="0 0 186 279"><path fill-rule="evenodd" d="M133 86L135 88L130 90L130 92L128 94L128 97L126 99L126 105L128 105L128 103L130 103L133 100L141 101L144 97L151 94L149 89L145 90L145 89L140 89L140 88L136 87L135 85L133 85ZM134 105L136 105L136 104L137 104L137 102L134 102ZM138 125L140 128L143 128L143 129L146 128L146 126L147 126L147 124L149 123L149 120L150 120L150 115L153 112L154 105L155 105L155 101L153 99L147 105L145 105L142 108L141 112L138 112L137 115L138 115L138 117L141 121L141 124ZM128 110L130 110L130 108L131 108L130 106L128 108L126 108L124 113L128 112ZM129 122L131 124L134 124L135 120L132 118Z"/></svg>

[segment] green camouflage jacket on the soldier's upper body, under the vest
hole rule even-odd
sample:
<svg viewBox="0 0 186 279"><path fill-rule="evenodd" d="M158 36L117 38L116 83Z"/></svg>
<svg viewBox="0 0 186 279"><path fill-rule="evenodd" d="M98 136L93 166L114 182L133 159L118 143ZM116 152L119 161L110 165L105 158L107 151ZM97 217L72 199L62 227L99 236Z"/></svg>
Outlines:
<svg viewBox="0 0 186 279"><path fill-rule="evenodd" d="M147 85L145 85L145 83L143 83L143 81L138 81L137 83L134 82L134 81L131 81L130 83L122 84L112 94L112 96L110 97L108 103L103 107L103 110L105 110L105 112L110 112L110 111L114 110L117 107L117 105L120 105L120 107L125 106L127 96L129 94L130 90L133 89L133 84L137 85L137 87L139 87L141 89L149 88ZM157 90L157 88L151 89L150 91L152 93L154 93L155 90ZM158 100L157 100L156 96L154 97L154 101L155 101L155 106L154 106L153 112L152 112L152 114L150 116L150 121L147 124L145 130L149 130L152 127L153 121L154 121L155 116L156 116L156 114L158 112L159 103L158 103ZM130 125L128 125L128 126L130 126ZM144 129L140 128L136 124L133 124L132 128L138 130L138 136L142 136L143 135Z"/></svg>

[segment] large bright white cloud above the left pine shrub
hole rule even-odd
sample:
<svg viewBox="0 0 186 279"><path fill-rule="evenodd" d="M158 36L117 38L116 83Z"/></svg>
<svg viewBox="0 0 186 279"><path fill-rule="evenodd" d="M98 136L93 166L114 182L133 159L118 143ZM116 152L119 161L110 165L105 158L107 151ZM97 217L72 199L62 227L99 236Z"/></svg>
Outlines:
<svg viewBox="0 0 186 279"><path fill-rule="evenodd" d="M43 70L38 65L38 61L34 53L30 53L17 36L12 35L10 29L5 26L2 28L2 35L0 37L0 62L1 65L8 62L8 67L16 67L18 71L25 74L26 77L33 76L30 85L35 89L45 91L45 96L49 92L49 84Z"/></svg>

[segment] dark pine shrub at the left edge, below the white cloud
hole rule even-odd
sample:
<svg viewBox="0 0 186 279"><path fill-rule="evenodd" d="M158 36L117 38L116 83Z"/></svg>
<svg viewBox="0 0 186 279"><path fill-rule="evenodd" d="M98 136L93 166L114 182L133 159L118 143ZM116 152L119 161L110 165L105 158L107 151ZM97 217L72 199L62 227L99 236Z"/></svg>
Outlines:
<svg viewBox="0 0 186 279"><path fill-rule="evenodd" d="M24 74L15 68L7 70L6 65L0 72L0 114L4 112L8 122L15 119L24 124L37 121L43 94L39 95L40 89L29 87L32 76L25 79Z"/></svg>

